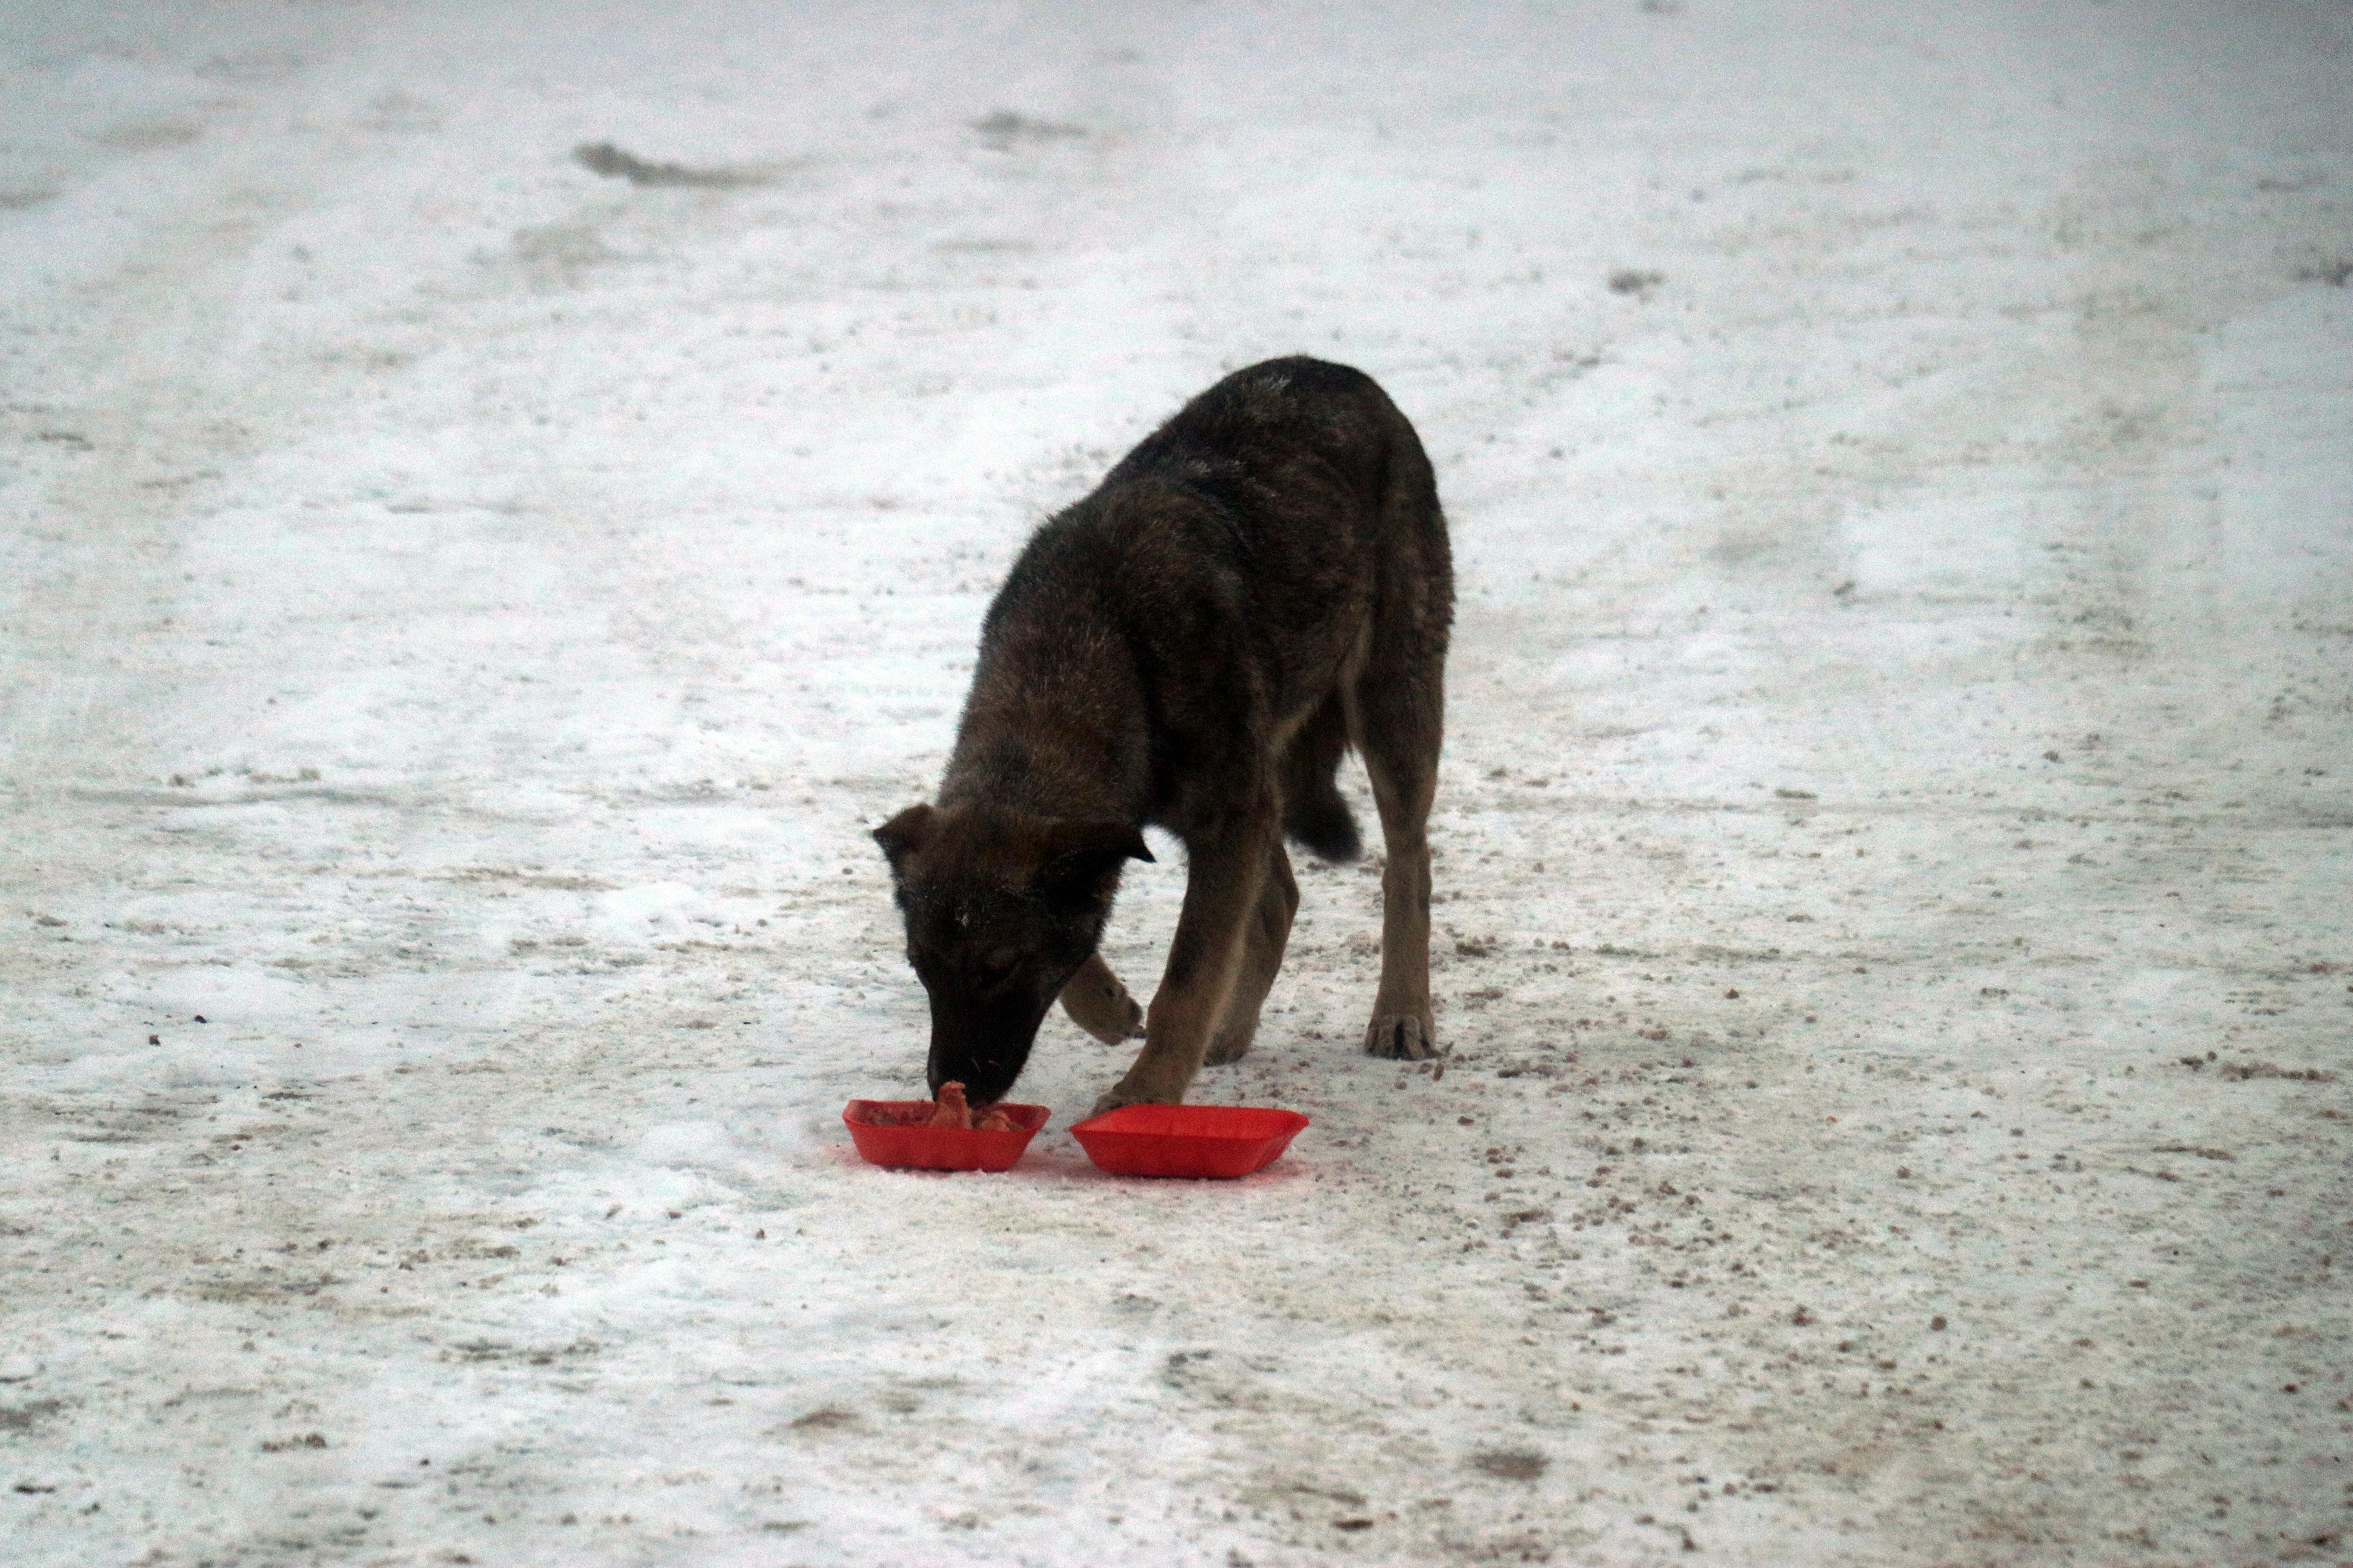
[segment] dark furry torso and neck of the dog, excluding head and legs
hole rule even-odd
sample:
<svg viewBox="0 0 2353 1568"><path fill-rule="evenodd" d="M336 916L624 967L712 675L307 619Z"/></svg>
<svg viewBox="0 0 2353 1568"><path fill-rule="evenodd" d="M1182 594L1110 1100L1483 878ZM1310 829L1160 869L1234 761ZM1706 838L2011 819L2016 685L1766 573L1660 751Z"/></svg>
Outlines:
<svg viewBox="0 0 2353 1568"><path fill-rule="evenodd" d="M1426 686L1435 726L1452 602L1428 456L1372 376L1306 357L1235 371L1014 562L941 802L1075 755L1108 785L1104 816L1184 837L1271 788L1294 839L1351 858L1341 689ZM1384 646L1393 623L1412 656Z"/></svg>

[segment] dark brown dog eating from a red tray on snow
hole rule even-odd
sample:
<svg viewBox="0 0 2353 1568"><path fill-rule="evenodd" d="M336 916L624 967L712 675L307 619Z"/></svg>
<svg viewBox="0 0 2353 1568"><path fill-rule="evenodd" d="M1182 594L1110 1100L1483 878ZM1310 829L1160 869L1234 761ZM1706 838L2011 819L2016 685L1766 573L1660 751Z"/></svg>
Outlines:
<svg viewBox="0 0 2353 1568"><path fill-rule="evenodd" d="M1000 1100L1059 997L1144 1051L1096 1103L1184 1100L1249 1051L1299 910L1285 837L1360 853L1381 813L1381 987L1365 1048L1435 1056L1428 813L1454 567L1421 440L1362 371L1268 360L1188 402L1021 550L934 804L875 827L932 1001L932 1093ZM1186 891L1146 1013L1096 943L1144 827Z"/></svg>

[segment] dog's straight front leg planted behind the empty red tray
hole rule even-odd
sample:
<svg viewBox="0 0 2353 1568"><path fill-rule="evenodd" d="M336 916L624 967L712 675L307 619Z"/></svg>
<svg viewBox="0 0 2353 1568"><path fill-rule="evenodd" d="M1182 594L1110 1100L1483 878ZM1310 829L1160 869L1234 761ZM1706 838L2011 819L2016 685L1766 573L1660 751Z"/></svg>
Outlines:
<svg viewBox="0 0 2353 1568"><path fill-rule="evenodd" d="M1186 842L1184 910L1169 940L1169 966L1144 1018L1144 1053L1094 1114L1120 1105L1181 1105L1184 1091L1209 1053L1209 1032L1242 961L1242 931L1259 903L1278 818L1268 809L1233 820L1219 835Z"/></svg>

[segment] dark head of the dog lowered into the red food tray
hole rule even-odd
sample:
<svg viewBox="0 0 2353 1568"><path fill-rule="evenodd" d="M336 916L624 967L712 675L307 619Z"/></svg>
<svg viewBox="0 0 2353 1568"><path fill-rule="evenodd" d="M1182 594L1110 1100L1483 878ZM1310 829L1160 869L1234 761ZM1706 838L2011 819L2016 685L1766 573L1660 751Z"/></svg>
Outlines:
<svg viewBox="0 0 2353 1568"><path fill-rule="evenodd" d="M1094 952L1120 867L1151 860L1132 823L908 806L875 827L932 997L932 1093L991 1105L1021 1077L1054 997Z"/></svg>

